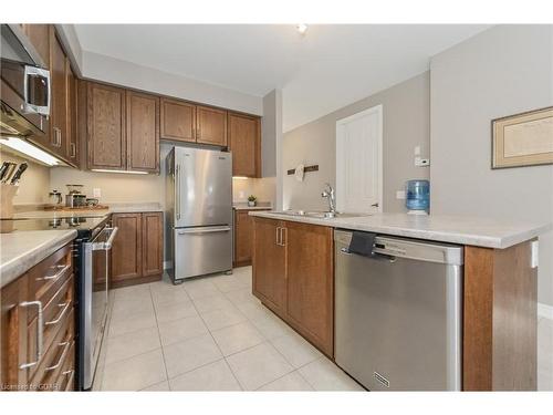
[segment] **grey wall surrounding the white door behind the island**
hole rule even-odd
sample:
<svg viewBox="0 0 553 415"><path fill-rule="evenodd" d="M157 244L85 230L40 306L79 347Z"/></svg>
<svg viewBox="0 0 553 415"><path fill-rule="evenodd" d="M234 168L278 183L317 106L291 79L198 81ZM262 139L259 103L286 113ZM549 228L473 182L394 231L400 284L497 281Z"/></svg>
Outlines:
<svg viewBox="0 0 553 415"><path fill-rule="evenodd" d="M336 183L336 121L382 104L384 110L384 211L406 211L405 200L396 199L411 178L428 178L428 167L416 167L414 148L422 156L429 147L429 82L425 72L400 84L357 101L314 122L284 134L283 207L291 209L325 209L321 190L326 181ZM319 164L319 172L305 174L300 183L286 170L300 163Z"/></svg>

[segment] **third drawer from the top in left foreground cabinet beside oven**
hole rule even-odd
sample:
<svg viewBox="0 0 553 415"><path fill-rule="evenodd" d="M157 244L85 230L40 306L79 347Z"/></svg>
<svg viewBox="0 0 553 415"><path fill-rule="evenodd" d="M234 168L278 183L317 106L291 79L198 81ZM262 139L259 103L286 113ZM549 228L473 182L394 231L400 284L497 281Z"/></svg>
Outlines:
<svg viewBox="0 0 553 415"><path fill-rule="evenodd" d="M60 385L56 385L63 366L72 353L74 353L73 342L75 338L74 312L71 308L70 312L63 321L55 336L52 339L50 347L45 349L40 363L31 378L31 387L39 391L59 391Z"/></svg>

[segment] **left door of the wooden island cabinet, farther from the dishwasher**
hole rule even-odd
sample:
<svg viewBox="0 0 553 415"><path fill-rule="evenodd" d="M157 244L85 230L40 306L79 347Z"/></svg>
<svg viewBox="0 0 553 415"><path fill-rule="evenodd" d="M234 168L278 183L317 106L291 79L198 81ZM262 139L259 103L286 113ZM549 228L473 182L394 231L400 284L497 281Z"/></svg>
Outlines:
<svg viewBox="0 0 553 415"><path fill-rule="evenodd" d="M278 245L281 222L253 219L253 294L280 315L286 311L286 253Z"/></svg>

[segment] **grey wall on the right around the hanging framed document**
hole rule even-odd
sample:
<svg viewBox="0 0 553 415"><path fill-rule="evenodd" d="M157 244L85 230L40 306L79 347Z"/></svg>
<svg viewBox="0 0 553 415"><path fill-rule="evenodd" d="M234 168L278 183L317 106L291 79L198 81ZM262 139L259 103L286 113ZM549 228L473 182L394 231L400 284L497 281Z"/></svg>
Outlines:
<svg viewBox="0 0 553 415"><path fill-rule="evenodd" d="M553 166L490 168L493 118L553 105L553 27L503 25L431 60L431 212L551 221ZM553 305L553 237L539 301Z"/></svg>

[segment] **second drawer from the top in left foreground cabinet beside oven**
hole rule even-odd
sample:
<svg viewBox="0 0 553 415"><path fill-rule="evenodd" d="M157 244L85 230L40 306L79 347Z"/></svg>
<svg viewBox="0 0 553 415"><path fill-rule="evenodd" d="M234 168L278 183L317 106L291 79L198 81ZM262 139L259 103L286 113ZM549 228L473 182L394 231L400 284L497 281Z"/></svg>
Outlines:
<svg viewBox="0 0 553 415"><path fill-rule="evenodd" d="M73 276L65 281L60 290L53 295L43 309L43 352L48 353L51 345L55 343L58 334L66 326L67 320L73 319ZM36 356L36 324L35 318L28 326L28 361L34 361ZM40 366L40 365L39 365ZM30 376L34 376L36 366L30 367Z"/></svg>

